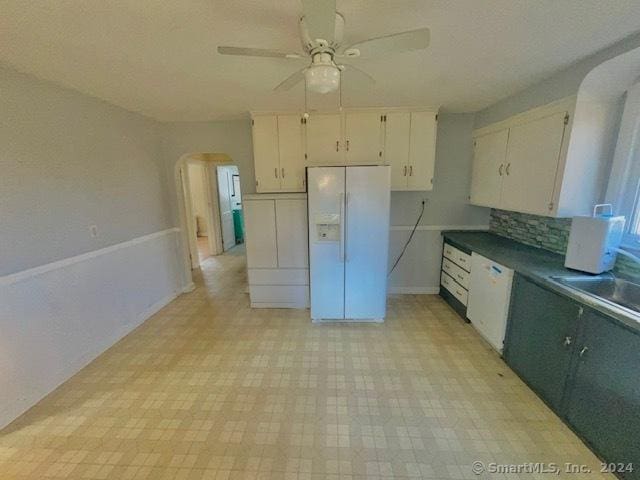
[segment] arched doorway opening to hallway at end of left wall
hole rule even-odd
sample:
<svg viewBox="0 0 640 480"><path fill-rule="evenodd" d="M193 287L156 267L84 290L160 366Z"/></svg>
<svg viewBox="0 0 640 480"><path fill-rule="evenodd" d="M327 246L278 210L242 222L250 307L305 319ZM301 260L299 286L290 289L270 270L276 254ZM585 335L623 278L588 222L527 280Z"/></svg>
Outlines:
<svg viewBox="0 0 640 480"><path fill-rule="evenodd" d="M183 156L176 165L185 277L225 252L244 254L238 167L224 154ZM187 282L191 283L192 282Z"/></svg>

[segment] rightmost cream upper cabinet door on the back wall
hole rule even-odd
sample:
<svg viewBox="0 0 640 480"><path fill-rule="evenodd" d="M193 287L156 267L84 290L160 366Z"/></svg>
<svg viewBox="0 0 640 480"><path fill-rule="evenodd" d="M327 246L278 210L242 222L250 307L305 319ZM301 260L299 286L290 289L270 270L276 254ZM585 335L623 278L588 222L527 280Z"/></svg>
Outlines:
<svg viewBox="0 0 640 480"><path fill-rule="evenodd" d="M436 114L411 113L409 143L409 190L431 190L436 162Z"/></svg>

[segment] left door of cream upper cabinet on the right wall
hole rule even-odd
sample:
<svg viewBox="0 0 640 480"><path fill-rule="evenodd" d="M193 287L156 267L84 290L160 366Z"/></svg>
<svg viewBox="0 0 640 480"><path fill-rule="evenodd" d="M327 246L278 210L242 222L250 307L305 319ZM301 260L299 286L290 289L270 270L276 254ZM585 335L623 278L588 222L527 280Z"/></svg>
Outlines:
<svg viewBox="0 0 640 480"><path fill-rule="evenodd" d="M496 208L500 206L508 138L509 130L504 129L474 140L470 192L472 204Z"/></svg>

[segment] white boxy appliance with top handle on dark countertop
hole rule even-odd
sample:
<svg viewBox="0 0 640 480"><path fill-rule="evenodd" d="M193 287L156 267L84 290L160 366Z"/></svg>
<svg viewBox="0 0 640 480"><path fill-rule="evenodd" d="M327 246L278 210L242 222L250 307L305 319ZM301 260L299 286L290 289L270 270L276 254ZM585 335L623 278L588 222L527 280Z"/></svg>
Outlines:
<svg viewBox="0 0 640 480"><path fill-rule="evenodd" d="M599 209L607 213L598 214ZM591 217L573 217L564 266L587 273L602 273L613 268L616 251L624 234L624 217L614 217L611 205L596 205Z"/></svg>

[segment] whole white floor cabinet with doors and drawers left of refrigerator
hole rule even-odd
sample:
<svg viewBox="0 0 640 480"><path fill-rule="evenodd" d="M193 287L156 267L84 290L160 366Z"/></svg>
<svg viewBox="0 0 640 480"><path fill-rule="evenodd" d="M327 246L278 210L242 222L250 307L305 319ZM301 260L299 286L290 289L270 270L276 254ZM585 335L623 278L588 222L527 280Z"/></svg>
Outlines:
<svg viewBox="0 0 640 480"><path fill-rule="evenodd" d="M253 308L308 308L307 196L243 197Z"/></svg>

